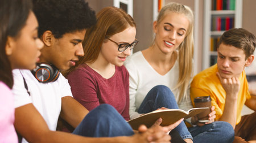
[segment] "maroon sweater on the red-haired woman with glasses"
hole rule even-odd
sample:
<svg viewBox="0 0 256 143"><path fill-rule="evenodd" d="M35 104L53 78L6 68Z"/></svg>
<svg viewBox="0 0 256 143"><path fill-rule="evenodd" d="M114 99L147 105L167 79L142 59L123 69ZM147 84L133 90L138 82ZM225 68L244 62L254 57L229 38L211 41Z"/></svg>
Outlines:
<svg viewBox="0 0 256 143"><path fill-rule="evenodd" d="M125 66L115 67L115 73L105 79L87 64L81 64L67 76L73 97L86 109L102 103L112 105L125 118L129 116L129 73Z"/></svg>

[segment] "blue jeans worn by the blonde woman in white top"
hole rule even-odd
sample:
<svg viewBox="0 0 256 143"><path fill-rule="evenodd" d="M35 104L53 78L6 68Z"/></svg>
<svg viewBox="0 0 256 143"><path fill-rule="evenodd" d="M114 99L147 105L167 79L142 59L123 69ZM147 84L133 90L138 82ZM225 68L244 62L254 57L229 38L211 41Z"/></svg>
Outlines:
<svg viewBox="0 0 256 143"><path fill-rule="evenodd" d="M178 109L177 102L171 90L164 85L155 86L148 92L144 98L141 106L138 109L139 113L147 113L166 107L168 109ZM181 122L175 130L179 132L180 136L185 138L192 138L193 142L233 142L234 129L232 125L226 122L214 122L202 127L196 126L187 128L184 122Z"/></svg>

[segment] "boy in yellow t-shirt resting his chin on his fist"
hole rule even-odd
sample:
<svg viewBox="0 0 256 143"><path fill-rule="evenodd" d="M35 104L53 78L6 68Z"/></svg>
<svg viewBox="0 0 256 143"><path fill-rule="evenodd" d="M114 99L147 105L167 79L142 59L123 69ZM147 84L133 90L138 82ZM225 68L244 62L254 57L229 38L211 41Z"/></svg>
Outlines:
<svg viewBox="0 0 256 143"><path fill-rule="evenodd" d="M256 142L256 113L241 117L243 105L256 110L256 96L249 93L244 71L254 60L255 46L255 36L245 29L224 32L217 47L217 64L197 74L191 83L192 102L210 96L216 120L233 126L234 142Z"/></svg>

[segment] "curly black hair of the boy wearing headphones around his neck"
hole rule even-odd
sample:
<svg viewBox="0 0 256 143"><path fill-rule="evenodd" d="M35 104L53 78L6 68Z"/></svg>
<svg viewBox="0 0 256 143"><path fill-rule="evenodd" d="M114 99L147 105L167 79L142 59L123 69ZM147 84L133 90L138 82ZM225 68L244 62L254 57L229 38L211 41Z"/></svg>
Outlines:
<svg viewBox="0 0 256 143"><path fill-rule="evenodd" d="M55 38L80 31L96 23L95 12L84 0L34 0L33 9L39 23L39 37L51 31Z"/></svg>

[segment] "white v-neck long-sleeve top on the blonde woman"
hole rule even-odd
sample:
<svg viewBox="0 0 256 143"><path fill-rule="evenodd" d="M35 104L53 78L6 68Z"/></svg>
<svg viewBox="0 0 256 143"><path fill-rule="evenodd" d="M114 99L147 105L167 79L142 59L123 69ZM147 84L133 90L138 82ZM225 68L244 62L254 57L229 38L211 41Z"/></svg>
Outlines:
<svg viewBox="0 0 256 143"><path fill-rule="evenodd" d="M130 118L134 119L140 114L137 112L143 99L147 93L156 85L166 85L174 93L175 99L179 99L179 89L173 90L177 85L179 78L179 63L175 62L174 67L171 68L166 75L160 75L151 67L147 60L143 57L141 51L134 53L125 61L125 67L129 71L129 94L130 94ZM192 108L191 99L189 97L189 90L187 91L187 100L181 101L178 106L179 109L185 111Z"/></svg>

